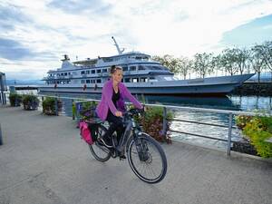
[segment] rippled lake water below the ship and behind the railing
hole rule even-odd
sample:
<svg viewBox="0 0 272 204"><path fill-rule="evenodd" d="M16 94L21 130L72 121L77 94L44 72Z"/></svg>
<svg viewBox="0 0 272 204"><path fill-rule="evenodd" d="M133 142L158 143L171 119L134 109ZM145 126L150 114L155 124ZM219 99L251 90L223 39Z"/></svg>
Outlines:
<svg viewBox="0 0 272 204"><path fill-rule="evenodd" d="M35 91L21 91L21 93ZM60 94L66 97L78 97L86 99L100 99L101 95L95 94ZM142 96L137 96L142 101ZM272 110L272 97L265 96L238 96L230 95L226 97L183 97L183 96L144 96L146 103L160 103L165 105L185 106L185 107L198 107L219 110L233 110L233 111L249 111L249 112L270 112ZM72 115L71 100L63 100L63 113ZM199 121L208 122L213 124L227 125L228 115L212 112L192 112L181 110L170 110L174 113L174 117L186 121ZM233 120L233 125L235 122ZM200 125L188 122L172 121L171 130L185 131L195 134L201 134L209 137L216 137L221 139L228 138L228 128L214 127L208 125ZM171 133L173 140L189 141L193 143L212 145L219 148L226 147L225 141L214 141L203 139L189 134ZM238 141L241 138L241 132L237 129L232 130L232 140Z"/></svg>

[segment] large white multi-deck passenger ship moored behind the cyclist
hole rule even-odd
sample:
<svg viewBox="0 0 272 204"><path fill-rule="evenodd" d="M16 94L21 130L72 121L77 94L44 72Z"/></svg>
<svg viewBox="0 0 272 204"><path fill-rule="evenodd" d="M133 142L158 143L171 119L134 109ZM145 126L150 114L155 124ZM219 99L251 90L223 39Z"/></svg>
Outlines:
<svg viewBox="0 0 272 204"><path fill-rule="evenodd" d="M101 93L110 78L112 64L123 70L123 83L132 93L158 95L225 95L253 74L178 80L170 70L145 53L123 53L114 38L118 55L71 63L64 55L62 67L50 70L39 92Z"/></svg>

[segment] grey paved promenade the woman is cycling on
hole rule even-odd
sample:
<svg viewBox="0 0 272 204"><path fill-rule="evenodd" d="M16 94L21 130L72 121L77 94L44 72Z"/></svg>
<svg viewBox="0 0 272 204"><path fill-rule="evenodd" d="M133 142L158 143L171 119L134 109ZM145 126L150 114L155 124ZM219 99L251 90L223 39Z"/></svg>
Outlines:
<svg viewBox="0 0 272 204"><path fill-rule="evenodd" d="M0 106L0 204L271 204L272 163L175 142L151 185L127 160L94 160L75 122Z"/></svg>

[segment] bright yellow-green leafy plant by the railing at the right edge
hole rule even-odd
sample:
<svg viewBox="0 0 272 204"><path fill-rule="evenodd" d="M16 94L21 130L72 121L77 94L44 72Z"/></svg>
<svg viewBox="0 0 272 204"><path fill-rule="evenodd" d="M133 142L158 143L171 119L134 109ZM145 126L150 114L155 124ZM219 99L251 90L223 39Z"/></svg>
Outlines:
<svg viewBox="0 0 272 204"><path fill-rule="evenodd" d="M255 146L258 155L265 158L272 157L272 143L266 141L272 137L271 116L254 116L247 121L243 133L247 135L250 143Z"/></svg>

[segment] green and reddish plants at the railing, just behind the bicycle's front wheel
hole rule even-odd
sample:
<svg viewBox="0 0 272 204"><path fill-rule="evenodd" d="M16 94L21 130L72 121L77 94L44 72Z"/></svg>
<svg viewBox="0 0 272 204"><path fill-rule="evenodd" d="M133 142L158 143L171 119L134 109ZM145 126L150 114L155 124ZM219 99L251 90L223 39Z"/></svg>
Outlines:
<svg viewBox="0 0 272 204"><path fill-rule="evenodd" d="M166 135L163 135L163 108L162 107L147 107L144 115L136 118L136 121L141 123L143 131L147 132L157 141L166 141L170 143L170 121L173 119L172 112L167 113Z"/></svg>

